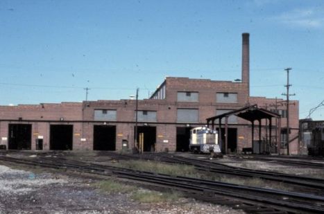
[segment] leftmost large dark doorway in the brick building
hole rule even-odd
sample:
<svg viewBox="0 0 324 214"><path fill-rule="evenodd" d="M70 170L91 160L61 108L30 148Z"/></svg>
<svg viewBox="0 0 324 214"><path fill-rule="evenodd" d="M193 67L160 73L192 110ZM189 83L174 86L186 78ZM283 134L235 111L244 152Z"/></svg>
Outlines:
<svg viewBox="0 0 324 214"><path fill-rule="evenodd" d="M31 150L31 124L9 124L9 150Z"/></svg>

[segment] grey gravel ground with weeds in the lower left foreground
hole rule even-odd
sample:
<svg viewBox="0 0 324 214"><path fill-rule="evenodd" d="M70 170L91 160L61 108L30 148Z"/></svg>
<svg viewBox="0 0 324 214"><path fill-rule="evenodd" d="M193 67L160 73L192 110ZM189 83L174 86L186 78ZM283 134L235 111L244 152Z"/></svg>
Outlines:
<svg viewBox="0 0 324 214"><path fill-rule="evenodd" d="M0 181L0 213L244 213L187 198L139 203L129 194L102 193L93 179L42 170L0 165Z"/></svg>

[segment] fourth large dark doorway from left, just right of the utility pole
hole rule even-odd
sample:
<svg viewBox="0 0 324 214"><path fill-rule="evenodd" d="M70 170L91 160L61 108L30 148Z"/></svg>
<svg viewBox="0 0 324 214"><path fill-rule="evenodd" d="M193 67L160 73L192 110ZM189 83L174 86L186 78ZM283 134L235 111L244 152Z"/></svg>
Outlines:
<svg viewBox="0 0 324 214"><path fill-rule="evenodd" d="M143 152L154 152L156 143L156 127L137 126L137 143L139 142L139 133L144 134Z"/></svg>

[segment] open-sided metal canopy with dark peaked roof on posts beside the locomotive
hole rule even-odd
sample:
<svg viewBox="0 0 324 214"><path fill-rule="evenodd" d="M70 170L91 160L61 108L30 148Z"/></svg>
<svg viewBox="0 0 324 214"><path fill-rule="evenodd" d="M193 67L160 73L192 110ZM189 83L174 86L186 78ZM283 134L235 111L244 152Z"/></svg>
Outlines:
<svg viewBox="0 0 324 214"><path fill-rule="evenodd" d="M261 120L266 119L269 121L269 130L270 130L269 140L271 143L271 126L272 126L271 118L280 118L280 114L270 112L267 109L258 108L257 105L250 105L248 107L243 107L241 109L233 110L231 112L227 112L224 114L213 116L211 118L207 118L206 119L207 125L210 125L211 123L212 129L214 129L215 121L217 119L219 120L220 136L221 136L221 119L225 118L225 154L228 152L227 151L228 150L228 117L231 115L239 116L240 118L244 118L246 121L250 121L252 123L252 143L253 143L253 136L254 136L254 122L259 121L259 151L261 151ZM280 127L280 120L279 120L279 127Z"/></svg>

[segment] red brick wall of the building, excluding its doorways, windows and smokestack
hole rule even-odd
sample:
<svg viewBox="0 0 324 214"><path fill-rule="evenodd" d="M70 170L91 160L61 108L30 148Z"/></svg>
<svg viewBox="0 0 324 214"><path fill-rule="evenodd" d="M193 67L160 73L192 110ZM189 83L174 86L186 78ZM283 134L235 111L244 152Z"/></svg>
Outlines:
<svg viewBox="0 0 324 214"><path fill-rule="evenodd" d="M176 123L178 108L199 109L199 123L206 123L206 118L216 115L216 109L239 109L244 107L247 102L257 104L259 107L269 106L275 102L275 99L262 97L248 98L248 86L244 83L229 81L196 80L189 78L167 78L167 98L164 100L139 100L139 110L149 110L157 112L158 123ZM196 91L199 93L199 102L177 102L178 91ZM216 92L232 92L238 94L237 103L216 103ZM283 101L283 100L279 100ZM290 125L298 128L298 101L290 108ZM94 121L94 109L116 109L117 121L123 123L110 122L108 125L116 125L116 148L121 150L122 140L129 142L130 148L133 147L134 126L135 126L135 105L136 100L98 100L83 103L63 102L60 104L42 105L19 105L16 107L0 107L0 118L2 120L17 120L22 117L22 122L31 123L33 126L32 148L35 148L35 139L38 135L44 136L44 150L49 150L49 125L51 123L42 122L24 122L24 120L55 120L64 118L65 121ZM285 106L279 107L285 109ZM237 149L251 147L251 128L250 123L241 118L239 124L248 124L249 126L237 127ZM0 123L1 137L8 137L8 121ZM62 123L65 124L65 123ZM74 150L92 150L93 149L93 127L94 125L103 125L103 122L85 122L69 123L74 125ZM143 125L144 123L139 123ZM257 122L255 123L255 140L259 139ZM285 127L286 121L281 123ZM262 121L265 125L265 121ZM273 120L273 125L275 125ZM170 151L176 150L176 127L185 127L186 124L151 124L156 127L156 150L163 151L168 148ZM195 125L191 125L194 127ZM218 121L216 121L218 126ZM295 136L298 130L292 130L291 137ZM273 130L274 135L274 130ZM265 136L262 130L262 137ZM86 139L86 141L81 141ZM297 142L297 143L296 143ZM6 142L1 142L6 143ZM291 154L296 154L298 150L298 141L291 143Z"/></svg>

